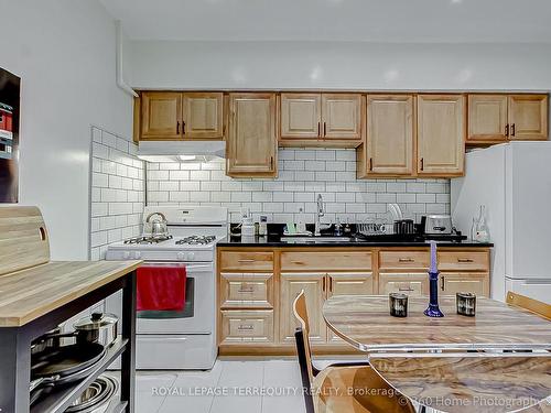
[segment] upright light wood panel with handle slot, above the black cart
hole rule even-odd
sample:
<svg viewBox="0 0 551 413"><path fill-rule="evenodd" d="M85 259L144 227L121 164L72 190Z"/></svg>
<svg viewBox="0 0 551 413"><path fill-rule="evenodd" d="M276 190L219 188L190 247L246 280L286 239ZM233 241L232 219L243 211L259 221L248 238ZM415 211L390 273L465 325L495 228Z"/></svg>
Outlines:
<svg viewBox="0 0 551 413"><path fill-rule="evenodd" d="M50 242L36 207L0 207L0 275L50 261Z"/></svg>

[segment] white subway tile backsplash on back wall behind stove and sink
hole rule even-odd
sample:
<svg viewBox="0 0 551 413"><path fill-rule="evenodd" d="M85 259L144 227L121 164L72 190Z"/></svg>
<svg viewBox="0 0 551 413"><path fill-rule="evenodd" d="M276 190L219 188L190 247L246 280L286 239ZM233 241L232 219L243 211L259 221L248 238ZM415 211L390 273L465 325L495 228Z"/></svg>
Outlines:
<svg viewBox="0 0 551 413"><path fill-rule="evenodd" d="M311 222L317 194L325 202L325 220L386 218L388 203L399 203L404 216L415 219L422 214L450 210L447 180L358 181L353 149L280 149L277 178L228 177L222 160L150 163L147 167L150 203L223 205L229 208L233 221L239 221L240 207L248 207L256 220L266 215L274 222L298 220L302 208ZM133 174L130 167L127 173L129 177Z"/></svg>

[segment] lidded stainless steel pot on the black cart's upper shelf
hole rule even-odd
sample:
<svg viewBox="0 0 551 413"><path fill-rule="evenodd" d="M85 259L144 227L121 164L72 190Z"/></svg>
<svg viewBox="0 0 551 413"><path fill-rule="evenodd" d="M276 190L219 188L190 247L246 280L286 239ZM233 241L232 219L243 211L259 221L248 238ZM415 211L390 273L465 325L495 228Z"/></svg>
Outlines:
<svg viewBox="0 0 551 413"><path fill-rule="evenodd" d="M73 324L77 343L99 343L105 348L110 347L117 339L119 318L109 313L91 313Z"/></svg>

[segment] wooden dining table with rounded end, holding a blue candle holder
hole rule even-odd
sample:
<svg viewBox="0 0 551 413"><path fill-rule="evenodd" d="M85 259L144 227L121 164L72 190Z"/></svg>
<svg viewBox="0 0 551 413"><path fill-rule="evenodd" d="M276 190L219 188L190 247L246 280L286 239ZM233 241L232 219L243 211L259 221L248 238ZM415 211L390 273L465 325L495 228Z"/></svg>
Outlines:
<svg viewBox="0 0 551 413"><path fill-rule="evenodd" d="M393 389L442 412L551 413L551 322L505 303L477 298L476 315L423 314L428 297L409 297L408 317L392 317L388 296L335 296L323 307L329 329L356 349ZM361 383L357 383L361 385Z"/></svg>

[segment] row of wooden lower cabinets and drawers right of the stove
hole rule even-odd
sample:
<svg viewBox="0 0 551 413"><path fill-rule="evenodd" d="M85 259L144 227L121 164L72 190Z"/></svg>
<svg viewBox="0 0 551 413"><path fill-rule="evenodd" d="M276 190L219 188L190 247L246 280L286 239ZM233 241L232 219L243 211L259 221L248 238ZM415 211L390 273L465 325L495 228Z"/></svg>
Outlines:
<svg viewBox="0 0 551 413"><path fill-rule="evenodd" d="M489 296L489 248L439 249L440 294ZM240 248L218 251L218 343L223 355L292 355L293 302L304 290L316 354L352 354L323 318L332 296L429 295L429 248Z"/></svg>

